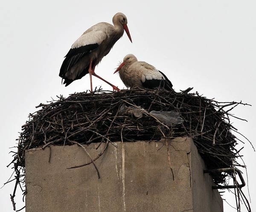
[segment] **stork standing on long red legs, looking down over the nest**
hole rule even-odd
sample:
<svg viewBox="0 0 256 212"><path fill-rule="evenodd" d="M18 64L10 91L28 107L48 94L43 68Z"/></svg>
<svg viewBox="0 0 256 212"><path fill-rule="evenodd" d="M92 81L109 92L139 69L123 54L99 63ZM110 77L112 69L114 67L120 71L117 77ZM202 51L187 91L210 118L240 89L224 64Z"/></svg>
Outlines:
<svg viewBox="0 0 256 212"><path fill-rule="evenodd" d="M94 72L96 65L109 53L116 41L122 37L124 30L131 41L126 16L122 13L116 13L112 21L113 25L105 22L93 25L73 43L70 51L65 56L59 73L59 76L64 79L65 86L89 73L92 92L92 75L102 79ZM105 79L102 80L111 85L113 90L119 90Z"/></svg>

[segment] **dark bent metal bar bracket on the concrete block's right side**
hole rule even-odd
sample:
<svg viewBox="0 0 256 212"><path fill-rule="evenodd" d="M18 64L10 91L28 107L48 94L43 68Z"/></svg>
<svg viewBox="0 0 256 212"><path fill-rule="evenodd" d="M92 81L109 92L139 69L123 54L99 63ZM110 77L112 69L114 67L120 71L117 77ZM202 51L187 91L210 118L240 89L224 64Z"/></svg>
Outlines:
<svg viewBox="0 0 256 212"><path fill-rule="evenodd" d="M212 189L234 189L234 188L237 188L237 187L238 188L244 187L245 186L244 178L242 176L241 171L237 168L230 167L230 168L215 169L215 170L204 170L204 173L212 173L212 174L218 173L218 172L230 173L230 172L234 172L234 171L239 175L239 178L240 178L242 184L237 184L237 185L233 185L233 186L229 186L229 185L212 186Z"/></svg>

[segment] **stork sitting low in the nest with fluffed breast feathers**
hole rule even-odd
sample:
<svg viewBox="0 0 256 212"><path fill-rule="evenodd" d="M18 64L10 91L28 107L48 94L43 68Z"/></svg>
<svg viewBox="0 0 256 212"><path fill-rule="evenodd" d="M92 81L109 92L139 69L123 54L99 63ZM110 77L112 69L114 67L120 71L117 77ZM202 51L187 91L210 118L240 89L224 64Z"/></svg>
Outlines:
<svg viewBox="0 0 256 212"><path fill-rule="evenodd" d="M122 82L128 87L157 88L163 87L167 90L172 89L172 82L166 75L157 70L147 62L138 61L133 54L127 54L123 62L114 73L118 72Z"/></svg>

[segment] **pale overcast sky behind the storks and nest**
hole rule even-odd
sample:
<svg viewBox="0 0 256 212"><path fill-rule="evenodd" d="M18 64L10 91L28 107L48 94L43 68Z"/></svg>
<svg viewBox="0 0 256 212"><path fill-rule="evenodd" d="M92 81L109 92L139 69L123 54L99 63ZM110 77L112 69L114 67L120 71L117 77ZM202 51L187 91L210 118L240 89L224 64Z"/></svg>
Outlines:
<svg viewBox="0 0 256 212"><path fill-rule="evenodd" d="M167 3L168 2L168 3ZM96 73L119 88L124 85L114 69L126 54L154 65L172 81L176 91L194 87L208 98L240 101L253 107L238 107L233 125L254 145L256 81L256 3L253 0L170 1L49 1L12 0L0 7L1 175L0 184L12 170L10 149L35 106L51 96L90 88L89 76L61 85L58 76L63 57L72 43L98 22L112 23L116 12L128 18L133 43L126 34L96 67ZM93 86L104 82L93 78ZM249 144L241 151L247 164L252 211L256 210L256 153ZM14 150L14 149L11 149ZM245 177L245 175L244 175ZM9 194L14 184L0 189L2 211L12 212ZM247 189L244 187L244 192ZM231 195L224 198L235 206ZM23 206L16 197L17 209ZM24 211L24 210L23 210ZM224 204L225 212L235 212ZM242 210L245 211L245 210Z"/></svg>

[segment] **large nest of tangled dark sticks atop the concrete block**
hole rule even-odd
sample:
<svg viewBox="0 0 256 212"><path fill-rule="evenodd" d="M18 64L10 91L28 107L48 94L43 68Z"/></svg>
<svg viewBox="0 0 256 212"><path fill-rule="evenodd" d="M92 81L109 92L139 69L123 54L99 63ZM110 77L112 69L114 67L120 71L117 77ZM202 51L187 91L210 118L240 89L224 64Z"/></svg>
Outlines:
<svg viewBox="0 0 256 212"><path fill-rule="evenodd" d="M38 105L41 109L29 114L29 121L22 126L11 163L17 175L16 187L24 182L25 151L50 145L107 145L114 141L158 141L184 136L194 140L208 169L239 165L236 145L240 140L233 135L237 129L230 123L230 116L235 117L230 111L247 104L217 102L197 92L189 93L190 90L96 90L60 96ZM227 175L220 172L212 174L212 178L215 184L228 184Z"/></svg>

